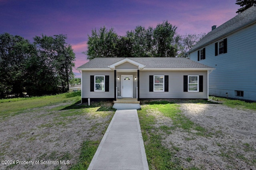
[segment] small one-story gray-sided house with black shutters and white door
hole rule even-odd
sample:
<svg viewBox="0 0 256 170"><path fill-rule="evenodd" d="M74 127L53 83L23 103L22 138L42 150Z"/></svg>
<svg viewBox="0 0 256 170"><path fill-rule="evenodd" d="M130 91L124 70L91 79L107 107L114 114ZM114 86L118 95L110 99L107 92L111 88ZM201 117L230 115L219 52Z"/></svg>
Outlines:
<svg viewBox="0 0 256 170"><path fill-rule="evenodd" d="M77 68L82 102L117 98L208 98L214 68L187 58L94 58Z"/></svg>

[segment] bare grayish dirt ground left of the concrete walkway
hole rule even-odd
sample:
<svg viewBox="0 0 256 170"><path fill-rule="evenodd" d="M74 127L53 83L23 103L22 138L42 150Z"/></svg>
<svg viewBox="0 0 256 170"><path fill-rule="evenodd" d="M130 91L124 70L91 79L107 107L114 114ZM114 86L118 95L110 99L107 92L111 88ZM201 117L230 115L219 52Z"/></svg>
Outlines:
<svg viewBox="0 0 256 170"><path fill-rule="evenodd" d="M66 170L79 159L82 142L101 140L102 130L108 126L114 112L102 115L95 110L76 115L76 110L58 109L66 104L34 108L0 120L0 160L34 162L33 165L0 164L0 170ZM38 160L45 162L36 165ZM65 160L66 165L64 162L46 163L60 160Z"/></svg>

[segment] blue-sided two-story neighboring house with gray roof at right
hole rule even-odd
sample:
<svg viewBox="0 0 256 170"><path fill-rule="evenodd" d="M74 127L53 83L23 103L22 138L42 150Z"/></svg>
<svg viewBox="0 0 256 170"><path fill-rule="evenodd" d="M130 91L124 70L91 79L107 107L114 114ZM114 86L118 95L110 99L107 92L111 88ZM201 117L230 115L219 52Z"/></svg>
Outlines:
<svg viewBox="0 0 256 170"><path fill-rule="evenodd" d="M209 75L209 94L256 100L256 6L206 34L189 58L216 68Z"/></svg>

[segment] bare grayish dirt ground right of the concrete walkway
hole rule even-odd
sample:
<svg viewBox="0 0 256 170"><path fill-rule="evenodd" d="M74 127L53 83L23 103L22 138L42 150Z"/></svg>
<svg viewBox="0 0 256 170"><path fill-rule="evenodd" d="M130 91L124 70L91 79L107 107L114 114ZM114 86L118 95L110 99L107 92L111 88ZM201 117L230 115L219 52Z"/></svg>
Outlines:
<svg viewBox="0 0 256 170"><path fill-rule="evenodd" d="M163 144L177 151L184 168L207 170L256 170L256 112L223 104L181 103L181 114L202 126L209 136L176 128L164 135ZM152 113L151 113L152 114ZM154 115L159 124L172 125L170 118Z"/></svg>

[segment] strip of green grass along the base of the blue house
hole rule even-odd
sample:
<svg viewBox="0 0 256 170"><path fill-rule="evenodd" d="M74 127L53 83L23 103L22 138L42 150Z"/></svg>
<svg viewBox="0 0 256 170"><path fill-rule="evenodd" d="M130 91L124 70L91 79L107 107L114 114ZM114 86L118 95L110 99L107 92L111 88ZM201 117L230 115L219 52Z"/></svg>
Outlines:
<svg viewBox="0 0 256 170"><path fill-rule="evenodd" d="M209 98L215 101L222 102L223 104L231 108L244 108L244 109L256 110L256 102L245 102L242 100L232 100L232 99L215 97L215 96L210 96Z"/></svg>

